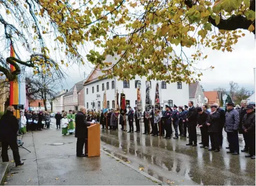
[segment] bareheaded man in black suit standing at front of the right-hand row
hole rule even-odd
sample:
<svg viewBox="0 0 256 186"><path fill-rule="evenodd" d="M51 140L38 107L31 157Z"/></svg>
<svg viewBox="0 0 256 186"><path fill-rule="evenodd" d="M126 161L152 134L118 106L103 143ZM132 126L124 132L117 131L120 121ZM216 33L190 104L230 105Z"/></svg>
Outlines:
<svg viewBox="0 0 256 186"><path fill-rule="evenodd" d="M186 121L189 127L189 143L186 145L197 146L196 123L197 123L197 110L194 107L194 102L188 102L189 110ZM193 144L194 143L194 144Z"/></svg>

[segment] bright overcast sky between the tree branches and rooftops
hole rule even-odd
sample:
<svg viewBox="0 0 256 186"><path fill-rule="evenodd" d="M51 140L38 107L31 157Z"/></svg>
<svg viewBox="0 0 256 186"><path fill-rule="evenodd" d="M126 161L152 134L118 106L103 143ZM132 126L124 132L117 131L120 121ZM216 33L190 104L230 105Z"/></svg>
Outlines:
<svg viewBox="0 0 256 186"><path fill-rule="evenodd" d="M227 51L223 53L210 48L203 49L203 54L208 55L208 58L198 62L198 68L207 69L211 65L215 67L213 70L203 71L200 83L205 91L212 91L219 86L228 90L230 81L238 83L240 87L244 86L248 90L254 90L255 39L252 33L247 31L244 33L246 35L233 46L232 53ZM186 54L193 53L193 51L193 49L186 49ZM87 68L77 65L69 67L67 69L69 77L63 88L71 88L74 83L83 79L84 72L89 74L92 69L93 65Z"/></svg>

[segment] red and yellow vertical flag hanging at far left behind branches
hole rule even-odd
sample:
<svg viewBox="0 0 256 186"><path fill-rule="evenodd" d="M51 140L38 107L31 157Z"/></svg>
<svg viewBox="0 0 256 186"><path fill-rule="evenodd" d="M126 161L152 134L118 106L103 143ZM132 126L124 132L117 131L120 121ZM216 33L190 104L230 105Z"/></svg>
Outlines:
<svg viewBox="0 0 256 186"><path fill-rule="evenodd" d="M11 45L10 53L11 53L10 54L11 57L15 57L15 52L13 50L12 45ZM10 69L11 69L11 72L16 70L13 65L10 65ZM19 86L18 86L18 81L16 79L15 81L10 81L10 105L18 105L18 104L19 104ZM14 115L17 118L20 118L19 110L15 110Z"/></svg>

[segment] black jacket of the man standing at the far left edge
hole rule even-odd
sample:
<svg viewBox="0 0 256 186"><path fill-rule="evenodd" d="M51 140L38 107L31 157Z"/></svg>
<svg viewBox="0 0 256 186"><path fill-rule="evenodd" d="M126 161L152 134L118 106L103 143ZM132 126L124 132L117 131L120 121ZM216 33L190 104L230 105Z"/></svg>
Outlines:
<svg viewBox="0 0 256 186"><path fill-rule="evenodd" d="M2 140L16 140L19 123L13 112L7 110L0 119L0 142Z"/></svg>

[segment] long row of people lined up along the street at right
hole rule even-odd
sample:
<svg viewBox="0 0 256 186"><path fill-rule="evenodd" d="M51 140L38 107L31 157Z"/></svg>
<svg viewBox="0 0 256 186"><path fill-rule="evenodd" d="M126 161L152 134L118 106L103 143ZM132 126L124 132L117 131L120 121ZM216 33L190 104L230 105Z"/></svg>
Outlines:
<svg viewBox="0 0 256 186"><path fill-rule="evenodd" d="M120 130L127 132L140 132L140 115L137 113L137 107L134 110L128 107L129 111L126 115L119 116L119 124L122 126ZM183 109L184 108L184 109ZM194 107L193 101L188 102L188 106L184 105L170 108L165 106L165 111L162 110L161 120L155 123L154 111L151 110L151 117L146 117L144 111L144 135L154 137L162 136L165 139L179 139L180 137L189 138L189 143L186 145L197 146L196 128L200 128L201 140L199 143L208 151L219 152L223 144L223 128L227 133L227 141L229 149L227 153L238 155L239 140L238 134L243 134L245 147L241 152L248 152L247 158L255 159L255 105L247 105L246 101L241 101L241 107L235 107L233 102L226 103L225 110L220 108L217 103L210 106L211 111L208 111L207 105L202 107ZM102 129L117 130L118 128L118 111L109 109L107 113L101 113L99 122L102 124ZM126 121L127 118L127 121ZM135 120L136 131L133 128ZM90 120L89 120L90 121ZM151 129L151 131L150 131ZM209 143L211 145L209 145Z"/></svg>

